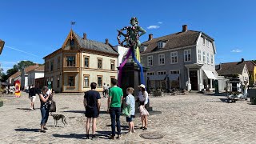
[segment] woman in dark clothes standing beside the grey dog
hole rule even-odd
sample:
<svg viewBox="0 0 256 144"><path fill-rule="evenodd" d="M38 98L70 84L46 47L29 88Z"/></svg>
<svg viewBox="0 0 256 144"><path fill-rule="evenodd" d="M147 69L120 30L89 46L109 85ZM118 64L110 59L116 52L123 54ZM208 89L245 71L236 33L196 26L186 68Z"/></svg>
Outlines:
<svg viewBox="0 0 256 144"><path fill-rule="evenodd" d="M52 94L46 94L48 91L47 86L42 87L42 93L39 94L40 102L41 102L41 115L42 115L42 120L41 120L41 130L40 132L46 133L46 123L48 121L49 117L49 108L50 108L50 98L52 98Z"/></svg>

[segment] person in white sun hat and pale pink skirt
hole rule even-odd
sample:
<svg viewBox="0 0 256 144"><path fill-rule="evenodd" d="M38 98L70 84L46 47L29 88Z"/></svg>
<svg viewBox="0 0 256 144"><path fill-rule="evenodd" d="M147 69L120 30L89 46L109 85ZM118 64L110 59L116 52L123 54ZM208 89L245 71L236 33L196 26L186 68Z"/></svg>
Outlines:
<svg viewBox="0 0 256 144"><path fill-rule="evenodd" d="M146 92L146 86L141 84L138 86L140 91L138 92L138 106L140 106L140 115L142 119L142 127L140 129L147 130L147 116L149 115L145 106L148 103L149 94ZM143 106L143 107L142 107ZM143 110L141 110L143 108Z"/></svg>

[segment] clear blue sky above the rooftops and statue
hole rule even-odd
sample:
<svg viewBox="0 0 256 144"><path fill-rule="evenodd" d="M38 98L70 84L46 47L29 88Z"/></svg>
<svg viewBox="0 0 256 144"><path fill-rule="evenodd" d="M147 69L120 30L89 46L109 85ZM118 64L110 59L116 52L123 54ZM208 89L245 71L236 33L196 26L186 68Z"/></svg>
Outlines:
<svg viewBox="0 0 256 144"><path fill-rule="evenodd" d="M173 34L188 25L214 38L216 63L256 59L256 1L254 0L26 0L2 1L0 38L6 46L0 55L7 70L22 60L43 63L43 57L60 48L70 31L99 42L117 45L117 29L136 16L146 31L141 41ZM153 27L151 29L148 29Z"/></svg>

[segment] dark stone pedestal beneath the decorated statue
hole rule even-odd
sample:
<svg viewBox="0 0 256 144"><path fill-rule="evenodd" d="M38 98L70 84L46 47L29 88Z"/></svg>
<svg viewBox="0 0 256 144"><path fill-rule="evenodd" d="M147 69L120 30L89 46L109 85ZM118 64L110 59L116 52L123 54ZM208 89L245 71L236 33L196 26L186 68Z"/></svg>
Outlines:
<svg viewBox="0 0 256 144"><path fill-rule="evenodd" d="M118 68L119 69L119 68ZM144 78L146 79L146 67L143 67L143 72L144 72ZM125 66L122 68L122 82L121 82L121 87L123 91L123 96L126 97L126 89L128 87L133 87L134 88L134 98L135 101L138 98L138 92L139 88L138 86L141 84L140 82L140 69L138 65L134 62L128 62L126 63ZM146 105L146 110L152 111L152 107L150 107L150 102ZM135 102L135 113L139 113L138 110L138 102Z"/></svg>

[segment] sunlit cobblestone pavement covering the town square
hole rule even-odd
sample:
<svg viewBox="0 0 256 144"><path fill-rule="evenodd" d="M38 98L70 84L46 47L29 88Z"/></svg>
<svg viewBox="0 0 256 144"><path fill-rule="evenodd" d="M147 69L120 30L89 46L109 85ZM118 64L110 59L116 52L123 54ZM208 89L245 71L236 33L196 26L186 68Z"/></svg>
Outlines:
<svg viewBox="0 0 256 144"><path fill-rule="evenodd" d="M36 110L29 110L28 94L21 98L4 97L0 108L0 143L256 143L256 105L244 100L235 103L222 102L224 96L190 94L150 98L154 110L162 114L149 117L148 130L137 129L126 134L127 123L121 118L122 138L107 139L110 134L110 115L106 114L106 98L102 98L102 114L98 118L96 139L84 139L85 116L82 94L55 94L57 113L66 116L68 125L54 127L49 118L46 134L39 132L41 114L39 99ZM140 118L134 124L141 126ZM144 139L140 134L162 134L161 139Z"/></svg>

